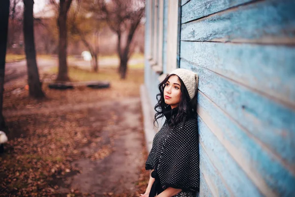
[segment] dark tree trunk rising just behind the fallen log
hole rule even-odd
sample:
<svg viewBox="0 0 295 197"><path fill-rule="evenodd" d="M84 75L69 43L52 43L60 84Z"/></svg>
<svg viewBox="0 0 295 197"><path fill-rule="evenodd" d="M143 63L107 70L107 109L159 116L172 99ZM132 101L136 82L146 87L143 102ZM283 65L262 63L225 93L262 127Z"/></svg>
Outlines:
<svg viewBox="0 0 295 197"><path fill-rule="evenodd" d="M67 7L65 0L59 1L59 18L58 18L58 27L59 27L59 73L57 81L69 81L68 76L68 67L66 62L67 56Z"/></svg>

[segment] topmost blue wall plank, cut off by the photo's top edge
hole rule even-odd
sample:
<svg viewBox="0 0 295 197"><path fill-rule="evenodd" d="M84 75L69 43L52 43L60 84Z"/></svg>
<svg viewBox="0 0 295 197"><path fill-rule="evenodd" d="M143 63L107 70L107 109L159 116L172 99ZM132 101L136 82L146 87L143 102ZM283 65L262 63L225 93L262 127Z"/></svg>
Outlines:
<svg viewBox="0 0 295 197"><path fill-rule="evenodd" d="M196 20L253 0L190 0L181 7L181 23Z"/></svg>

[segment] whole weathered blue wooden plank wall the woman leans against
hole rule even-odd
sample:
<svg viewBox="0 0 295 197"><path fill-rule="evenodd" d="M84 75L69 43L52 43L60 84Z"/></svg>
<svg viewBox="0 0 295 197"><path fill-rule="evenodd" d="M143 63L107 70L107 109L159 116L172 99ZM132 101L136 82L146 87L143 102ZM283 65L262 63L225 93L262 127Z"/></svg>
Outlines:
<svg viewBox="0 0 295 197"><path fill-rule="evenodd" d="M295 197L295 0L181 0L199 196Z"/></svg>

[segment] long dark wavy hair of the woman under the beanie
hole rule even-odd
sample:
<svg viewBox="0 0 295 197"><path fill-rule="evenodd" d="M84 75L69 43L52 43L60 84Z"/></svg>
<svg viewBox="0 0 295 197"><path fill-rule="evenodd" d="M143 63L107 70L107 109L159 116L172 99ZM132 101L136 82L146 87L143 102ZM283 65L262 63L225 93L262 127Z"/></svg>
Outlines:
<svg viewBox="0 0 295 197"><path fill-rule="evenodd" d="M181 121L184 123L187 118L196 117L197 115L197 93L195 97L190 100L188 91L183 81L177 75L176 76L178 77L178 80L180 81L180 84L181 84L180 85L181 95L180 95L180 101L178 104L178 113L176 115L172 115L172 109L170 105L166 104L164 100L164 88L166 86L166 82L168 81L168 79L173 75L176 75L176 74L170 74L166 76L166 78L158 86L160 93L157 94L156 96L158 103L154 107L156 111L155 117L153 120L154 126L155 126L155 122L157 122L157 125L159 126L157 119L163 117L165 114L171 114L171 118L168 123L170 127L177 125Z"/></svg>

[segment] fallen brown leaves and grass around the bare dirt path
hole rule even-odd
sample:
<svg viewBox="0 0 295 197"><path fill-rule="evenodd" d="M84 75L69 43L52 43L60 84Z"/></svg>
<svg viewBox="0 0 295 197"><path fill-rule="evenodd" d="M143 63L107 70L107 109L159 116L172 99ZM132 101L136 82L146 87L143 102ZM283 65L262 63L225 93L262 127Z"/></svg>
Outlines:
<svg viewBox="0 0 295 197"><path fill-rule="evenodd" d="M110 144L100 144L101 137L91 128L89 110L82 107L69 112L68 108L75 105L88 104L99 100L138 97L139 86L143 81L143 70L130 70L133 77L125 81L119 80L114 70L104 69L105 74L114 75L112 88L93 90L79 88L67 91L49 89L46 83L43 89L47 99L35 100L28 98L24 89L24 79L17 80L13 85L6 87L4 92L4 110L8 116L9 142L5 146L6 153L0 156L0 196L64 196L82 197L95 194L81 193L71 188L68 194L59 193L60 182L68 176L80 173L80 168L71 165L71 162L89 158L102 160L112 154L113 137L110 135ZM51 79L51 73L42 73L41 78ZM22 91L14 94L13 90ZM54 107L64 107L62 111L52 111ZM27 115L25 112L29 112ZM13 113L15 112L15 113ZM18 112L23 115L18 115ZM112 124L116 116L103 114L102 123ZM143 134L143 131L142 135ZM81 147L96 144L98 151L83 153ZM138 174L136 190L125 191L121 194L112 192L104 196L138 197L143 194L148 184L149 173L145 170L144 160L147 157L145 142L142 141L142 167ZM66 186L62 186L66 187Z"/></svg>

